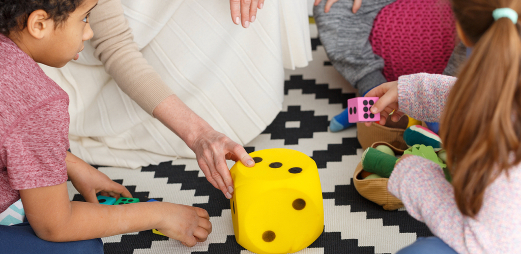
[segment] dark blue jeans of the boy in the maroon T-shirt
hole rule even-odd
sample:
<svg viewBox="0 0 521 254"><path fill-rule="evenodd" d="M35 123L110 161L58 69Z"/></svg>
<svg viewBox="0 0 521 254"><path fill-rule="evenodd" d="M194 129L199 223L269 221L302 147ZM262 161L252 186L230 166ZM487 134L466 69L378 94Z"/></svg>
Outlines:
<svg viewBox="0 0 521 254"><path fill-rule="evenodd" d="M103 253L100 238L76 242L54 243L40 239L29 222L12 226L0 225L0 253Z"/></svg>

